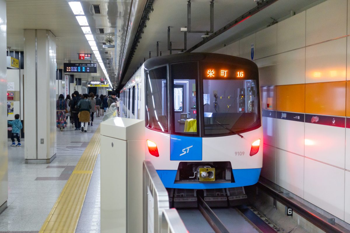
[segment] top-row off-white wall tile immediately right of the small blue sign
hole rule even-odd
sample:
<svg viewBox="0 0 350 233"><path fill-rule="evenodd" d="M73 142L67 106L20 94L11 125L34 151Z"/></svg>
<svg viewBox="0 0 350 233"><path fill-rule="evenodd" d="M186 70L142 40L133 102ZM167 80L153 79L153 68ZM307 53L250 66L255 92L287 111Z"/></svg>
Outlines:
<svg viewBox="0 0 350 233"><path fill-rule="evenodd" d="M255 59L277 53L277 24L258 31L256 35L257 46Z"/></svg>

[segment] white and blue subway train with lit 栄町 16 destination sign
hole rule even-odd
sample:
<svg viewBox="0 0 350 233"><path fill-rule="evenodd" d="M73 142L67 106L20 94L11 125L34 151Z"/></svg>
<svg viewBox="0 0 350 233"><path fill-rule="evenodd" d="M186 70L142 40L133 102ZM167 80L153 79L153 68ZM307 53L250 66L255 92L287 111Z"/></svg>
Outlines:
<svg viewBox="0 0 350 233"><path fill-rule="evenodd" d="M145 120L146 160L166 188L255 184L262 167L258 67L215 53L150 58L120 90L122 116Z"/></svg>

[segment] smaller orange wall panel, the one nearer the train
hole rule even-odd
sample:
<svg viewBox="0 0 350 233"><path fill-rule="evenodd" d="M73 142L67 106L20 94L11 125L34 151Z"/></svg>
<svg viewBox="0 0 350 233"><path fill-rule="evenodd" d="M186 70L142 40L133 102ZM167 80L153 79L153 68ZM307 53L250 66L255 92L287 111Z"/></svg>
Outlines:
<svg viewBox="0 0 350 233"><path fill-rule="evenodd" d="M305 84L277 86L277 111L304 112Z"/></svg>

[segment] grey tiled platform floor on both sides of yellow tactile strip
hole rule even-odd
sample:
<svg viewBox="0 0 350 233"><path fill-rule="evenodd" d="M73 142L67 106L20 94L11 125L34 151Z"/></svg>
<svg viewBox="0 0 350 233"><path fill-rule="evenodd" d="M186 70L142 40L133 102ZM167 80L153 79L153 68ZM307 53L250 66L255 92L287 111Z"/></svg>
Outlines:
<svg viewBox="0 0 350 233"><path fill-rule="evenodd" d="M95 117L87 133L75 131L71 125L63 132L57 130L57 154L50 164L26 164L25 140L22 147L8 147L8 207L0 214L0 233L40 231L101 121L102 117ZM100 232L99 159L98 155L77 233Z"/></svg>

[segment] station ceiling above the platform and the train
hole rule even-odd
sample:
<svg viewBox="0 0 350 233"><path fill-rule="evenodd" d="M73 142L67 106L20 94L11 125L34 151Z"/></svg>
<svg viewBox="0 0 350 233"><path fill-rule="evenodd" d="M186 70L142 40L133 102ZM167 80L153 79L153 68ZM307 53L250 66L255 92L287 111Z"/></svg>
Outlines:
<svg viewBox="0 0 350 233"><path fill-rule="evenodd" d="M70 0L69 0L70 1ZM168 27L172 48L183 48L181 27L187 26L188 0L149 0L153 11L147 27L127 70L126 60L131 50L136 30L147 0L81 0L84 13L97 43L111 82L122 86L137 70L144 59L156 56L156 43L162 55L169 54ZM226 31L195 51L213 51L222 44L233 42L254 31L266 27L275 20L298 13L324 0L278 0L238 26ZM96 12L97 5L100 12ZM214 31L237 19L257 6L254 0L214 0ZM78 53L92 53L68 0L7 0L7 46L23 51L23 29L48 29L56 36L57 67L71 60L79 62ZM210 0L191 0L191 30L210 29ZM203 33L187 33L187 49L202 41ZM210 35L210 34L209 34ZM103 48L106 38L112 38L115 48ZM176 53L179 51L173 51ZM95 60L94 60L95 59ZM93 56L93 62L96 57ZM124 71L125 70L125 71ZM124 75L123 75L124 74ZM84 80L104 77L100 67L95 74L77 74ZM122 80L121 78L124 79Z"/></svg>

